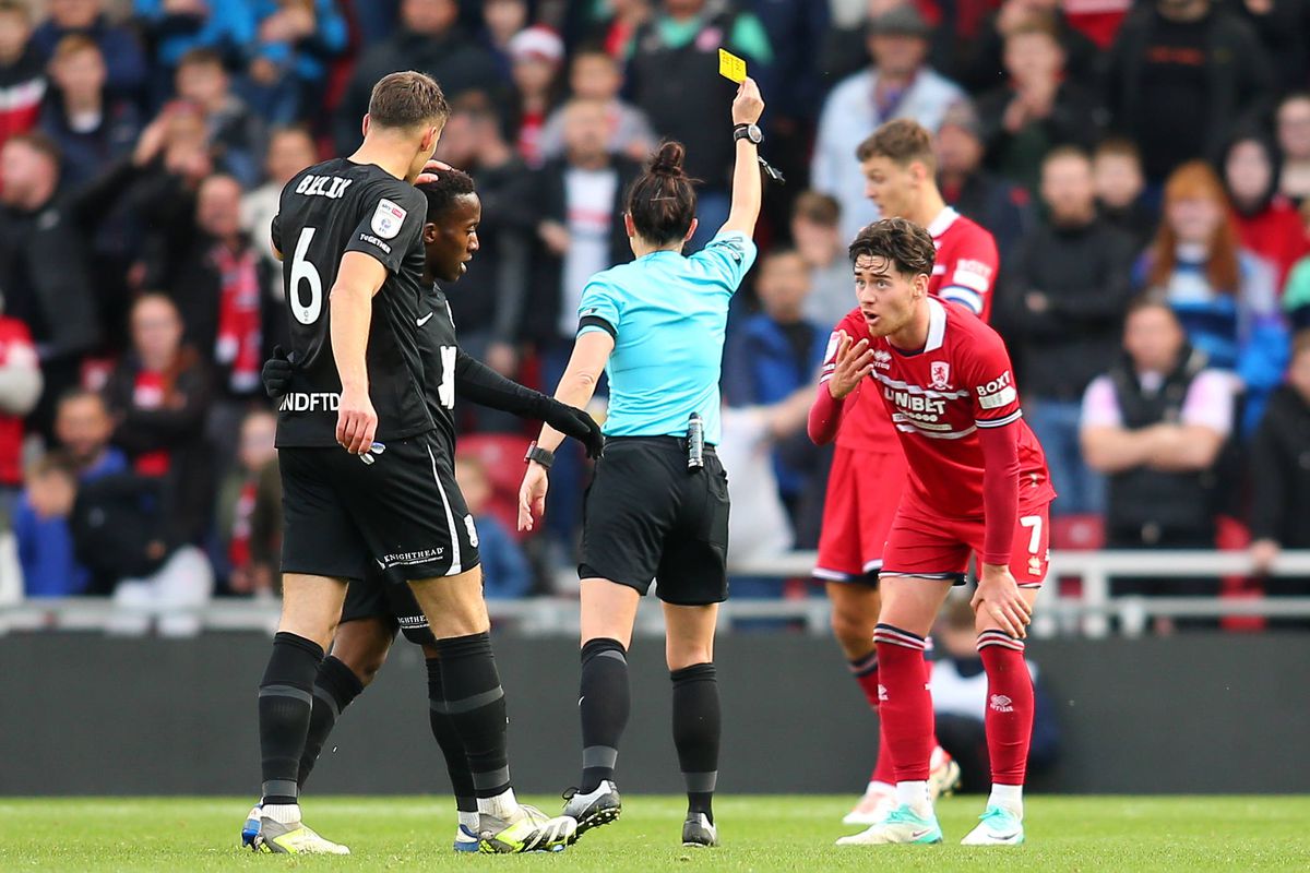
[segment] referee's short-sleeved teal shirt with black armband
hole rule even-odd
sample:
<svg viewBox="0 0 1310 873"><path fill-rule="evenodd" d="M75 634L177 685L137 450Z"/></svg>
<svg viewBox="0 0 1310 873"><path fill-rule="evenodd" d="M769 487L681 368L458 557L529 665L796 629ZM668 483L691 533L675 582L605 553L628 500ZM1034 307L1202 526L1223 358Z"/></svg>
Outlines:
<svg viewBox="0 0 1310 873"><path fill-rule="evenodd" d="M591 277L578 335L614 338L605 436L686 436L686 420L700 412L705 441L719 441L728 302L755 255L751 237L730 232L690 258L655 251Z"/></svg>

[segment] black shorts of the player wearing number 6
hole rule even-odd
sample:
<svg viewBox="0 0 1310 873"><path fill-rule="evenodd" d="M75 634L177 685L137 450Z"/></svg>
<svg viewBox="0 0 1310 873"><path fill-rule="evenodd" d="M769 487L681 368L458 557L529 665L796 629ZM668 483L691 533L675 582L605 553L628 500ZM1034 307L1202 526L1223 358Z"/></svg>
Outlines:
<svg viewBox="0 0 1310 873"><path fill-rule="evenodd" d="M456 576L478 565L478 534L449 453L422 433L376 454L283 448L282 572L392 582Z"/></svg>

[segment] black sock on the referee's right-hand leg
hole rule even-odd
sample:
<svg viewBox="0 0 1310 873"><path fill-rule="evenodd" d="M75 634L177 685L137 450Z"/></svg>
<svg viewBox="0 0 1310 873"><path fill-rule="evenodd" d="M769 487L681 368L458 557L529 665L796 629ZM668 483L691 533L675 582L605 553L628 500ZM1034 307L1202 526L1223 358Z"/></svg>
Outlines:
<svg viewBox="0 0 1310 873"><path fill-rule="evenodd" d="M673 745L686 783L686 810L705 813L719 776L719 681L713 664L693 664L668 674L673 681Z"/></svg>

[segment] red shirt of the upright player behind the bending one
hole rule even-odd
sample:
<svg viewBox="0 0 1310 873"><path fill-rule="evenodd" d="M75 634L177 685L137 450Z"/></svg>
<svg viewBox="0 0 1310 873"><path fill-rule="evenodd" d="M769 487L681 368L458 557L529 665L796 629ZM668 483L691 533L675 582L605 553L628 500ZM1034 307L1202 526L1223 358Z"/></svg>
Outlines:
<svg viewBox="0 0 1310 873"><path fill-rule="evenodd" d="M996 240L981 225L946 207L927 226L937 246L937 262L927 280L927 293L963 304L986 321L992 314L992 289L1000 255ZM837 357L837 331L846 331L857 342L869 335L869 326L859 306L846 313L828 340L824 372L831 372ZM855 452L897 452L896 431L887 410L876 398L872 383L855 389L845 404L837 445Z"/></svg>

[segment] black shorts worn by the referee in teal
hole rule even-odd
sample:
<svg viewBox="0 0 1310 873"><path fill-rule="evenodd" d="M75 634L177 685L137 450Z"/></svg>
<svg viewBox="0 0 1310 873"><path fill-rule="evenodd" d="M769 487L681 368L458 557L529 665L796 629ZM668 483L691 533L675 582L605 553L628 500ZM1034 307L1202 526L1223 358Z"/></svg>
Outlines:
<svg viewBox="0 0 1310 873"><path fill-rule="evenodd" d="M610 437L583 505L582 579L608 579L679 606L728 597L728 476L713 446L686 469L686 440Z"/></svg>

